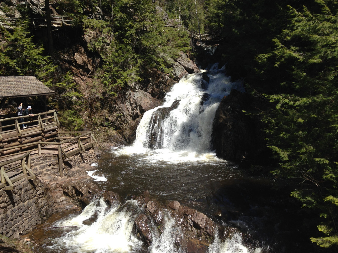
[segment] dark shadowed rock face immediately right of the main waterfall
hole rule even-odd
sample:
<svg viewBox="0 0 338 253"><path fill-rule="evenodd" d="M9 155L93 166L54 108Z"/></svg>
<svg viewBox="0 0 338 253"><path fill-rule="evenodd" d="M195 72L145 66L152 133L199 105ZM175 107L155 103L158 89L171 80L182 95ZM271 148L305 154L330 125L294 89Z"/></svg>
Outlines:
<svg viewBox="0 0 338 253"><path fill-rule="evenodd" d="M252 109L254 97L232 90L223 97L213 123L213 147L225 160L266 163L268 151L262 140L262 125L257 117L244 111Z"/></svg>

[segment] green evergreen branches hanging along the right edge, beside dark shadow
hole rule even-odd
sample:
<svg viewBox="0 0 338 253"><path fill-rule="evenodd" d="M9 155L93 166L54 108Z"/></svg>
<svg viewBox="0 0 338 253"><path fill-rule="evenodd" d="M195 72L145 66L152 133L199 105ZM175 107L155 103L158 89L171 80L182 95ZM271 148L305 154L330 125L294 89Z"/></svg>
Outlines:
<svg viewBox="0 0 338 253"><path fill-rule="evenodd" d="M338 3L288 6L288 25L259 54L257 89L269 102L266 140L279 161L274 175L297 183L291 196L318 213L321 247L338 244Z"/></svg>

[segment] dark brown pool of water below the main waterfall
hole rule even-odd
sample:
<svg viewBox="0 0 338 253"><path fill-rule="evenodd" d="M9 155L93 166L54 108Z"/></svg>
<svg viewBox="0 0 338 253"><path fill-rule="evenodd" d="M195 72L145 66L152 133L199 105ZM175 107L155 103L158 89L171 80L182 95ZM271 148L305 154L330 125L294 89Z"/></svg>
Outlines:
<svg viewBox="0 0 338 253"><path fill-rule="evenodd" d="M312 250L307 231L300 231L304 227L303 214L297 213L299 206L290 202L287 185L253 175L234 163L214 157L176 162L161 160L154 154L107 152L102 154L96 170L96 175L107 178L96 183L122 199L147 190L160 201L176 200L220 224L239 228L250 234L250 240L257 240L247 243L268 246L269 252ZM33 232L40 244L44 240L43 226Z"/></svg>

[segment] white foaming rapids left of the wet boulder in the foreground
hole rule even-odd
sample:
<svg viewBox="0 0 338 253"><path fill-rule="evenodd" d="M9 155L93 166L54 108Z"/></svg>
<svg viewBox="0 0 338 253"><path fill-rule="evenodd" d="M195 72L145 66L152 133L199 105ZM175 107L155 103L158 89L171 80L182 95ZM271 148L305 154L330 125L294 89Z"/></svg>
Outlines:
<svg viewBox="0 0 338 253"><path fill-rule="evenodd" d="M125 205L138 208L136 201L127 201ZM91 225L83 221L97 215ZM135 213L113 206L107 211L103 199L90 203L83 212L68 220L58 221L59 224L77 226L75 231L66 232L64 236L52 240L53 246L47 248L59 249L59 252L135 252L143 243L132 234ZM66 229L66 228L65 228ZM67 251L65 251L67 249Z"/></svg>

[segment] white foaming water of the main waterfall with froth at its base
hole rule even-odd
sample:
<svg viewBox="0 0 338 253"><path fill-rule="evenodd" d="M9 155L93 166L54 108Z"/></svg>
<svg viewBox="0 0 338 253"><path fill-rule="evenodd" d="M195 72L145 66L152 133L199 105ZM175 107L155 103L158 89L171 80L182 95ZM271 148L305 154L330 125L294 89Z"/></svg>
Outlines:
<svg viewBox="0 0 338 253"><path fill-rule="evenodd" d="M232 89L244 92L241 82L231 82L225 75L224 66L212 66L206 72L209 84L203 75L189 74L175 84L166 94L162 106L144 113L136 131L136 140L132 146L114 150L118 155L145 154L149 162L208 162L218 158L211 148L212 124L221 99L230 94ZM204 85L204 86L203 86ZM179 100L176 109L162 121L153 124L152 115L160 108L168 108ZM161 133L158 144L161 147L149 148L152 128L158 128Z"/></svg>

